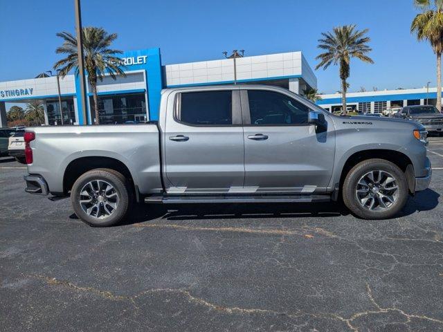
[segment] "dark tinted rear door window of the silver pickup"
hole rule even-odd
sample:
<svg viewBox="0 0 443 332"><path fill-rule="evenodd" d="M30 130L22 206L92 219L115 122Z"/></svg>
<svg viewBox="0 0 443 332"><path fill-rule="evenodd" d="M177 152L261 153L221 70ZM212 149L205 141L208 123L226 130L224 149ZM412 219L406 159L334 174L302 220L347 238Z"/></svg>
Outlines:
<svg viewBox="0 0 443 332"><path fill-rule="evenodd" d="M198 125L232 124L232 91L181 93L177 118L181 122Z"/></svg>

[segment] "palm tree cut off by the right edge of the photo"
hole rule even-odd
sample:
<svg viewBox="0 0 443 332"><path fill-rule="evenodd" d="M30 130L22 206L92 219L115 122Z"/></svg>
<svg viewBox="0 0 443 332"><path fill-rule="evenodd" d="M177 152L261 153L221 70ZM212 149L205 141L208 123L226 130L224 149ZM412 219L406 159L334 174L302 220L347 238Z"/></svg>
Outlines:
<svg viewBox="0 0 443 332"><path fill-rule="evenodd" d="M413 0L423 11L410 25L410 32L418 40L431 43L437 55L437 109L442 111L442 51L443 51L443 0Z"/></svg>

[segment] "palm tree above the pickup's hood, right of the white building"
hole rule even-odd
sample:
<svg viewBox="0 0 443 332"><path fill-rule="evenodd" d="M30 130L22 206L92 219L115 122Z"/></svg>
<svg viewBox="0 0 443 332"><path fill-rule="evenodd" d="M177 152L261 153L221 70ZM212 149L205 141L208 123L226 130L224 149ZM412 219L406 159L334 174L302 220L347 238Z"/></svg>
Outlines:
<svg viewBox="0 0 443 332"><path fill-rule="evenodd" d="M442 0L443 1L443 0ZM341 103L343 104L343 113L346 114L346 92L347 77L350 75L350 61L352 57L361 59L363 62L373 64L374 61L368 57L372 50L368 46L370 37L365 37L368 29L356 30L356 25L338 26L332 29L332 32L322 33L322 39L318 39L318 48L325 50L316 57L320 63L316 69L323 67L325 70L331 64L340 65L341 78Z"/></svg>

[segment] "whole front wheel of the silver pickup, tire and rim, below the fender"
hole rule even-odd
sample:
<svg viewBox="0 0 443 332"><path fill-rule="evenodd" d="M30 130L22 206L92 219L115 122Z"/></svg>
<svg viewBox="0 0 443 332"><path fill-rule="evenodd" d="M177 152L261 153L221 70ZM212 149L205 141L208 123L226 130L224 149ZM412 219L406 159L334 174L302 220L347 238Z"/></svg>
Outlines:
<svg viewBox="0 0 443 332"><path fill-rule="evenodd" d="M401 169L384 159L355 165L343 183L343 201L362 219L388 219L408 200L408 183Z"/></svg>

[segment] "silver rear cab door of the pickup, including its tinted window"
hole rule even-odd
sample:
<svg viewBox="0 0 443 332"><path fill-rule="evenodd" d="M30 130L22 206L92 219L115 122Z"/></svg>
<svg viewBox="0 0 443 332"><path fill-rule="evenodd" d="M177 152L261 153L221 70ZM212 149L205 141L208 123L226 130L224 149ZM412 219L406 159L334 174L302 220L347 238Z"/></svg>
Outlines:
<svg viewBox="0 0 443 332"><path fill-rule="evenodd" d="M227 193L242 188L244 138L239 90L174 92L168 98L163 142L168 194Z"/></svg>

